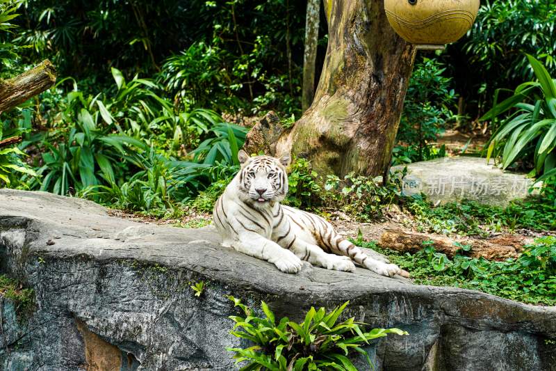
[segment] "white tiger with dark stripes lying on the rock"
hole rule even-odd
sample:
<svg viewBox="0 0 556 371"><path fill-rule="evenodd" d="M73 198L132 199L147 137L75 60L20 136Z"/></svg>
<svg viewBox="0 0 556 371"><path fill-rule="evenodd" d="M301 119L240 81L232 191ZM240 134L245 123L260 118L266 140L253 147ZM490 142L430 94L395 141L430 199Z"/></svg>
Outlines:
<svg viewBox="0 0 556 371"><path fill-rule="evenodd" d="M306 260L338 271L355 271L356 262L382 276L402 274L382 255L365 253L338 235L320 216L280 205L288 192L288 155L249 157L240 150L238 159L241 170L213 210L223 246L267 260L287 273L300 271Z"/></svg>

